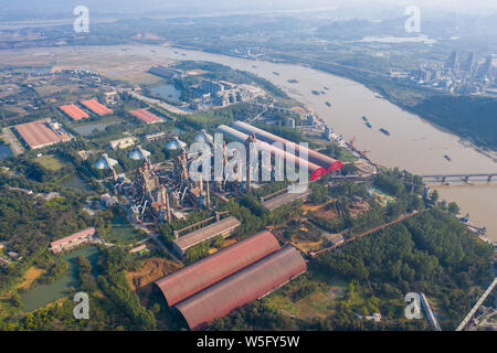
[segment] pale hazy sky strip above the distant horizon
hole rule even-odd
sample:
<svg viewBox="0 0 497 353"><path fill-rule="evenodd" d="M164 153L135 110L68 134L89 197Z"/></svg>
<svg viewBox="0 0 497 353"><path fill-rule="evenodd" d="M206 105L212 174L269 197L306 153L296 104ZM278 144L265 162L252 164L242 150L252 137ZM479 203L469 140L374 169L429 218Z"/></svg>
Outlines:
<svg viewBox="0 0 497 353"><path fill-rule="evenodd" d="M169 15L199 15L233 12L265 12L316 8L376 8L382 11L402 11L419 6L423 11L489 14L497 11L497 0L0 0L0 19L9 17L50 18L68 13L76 6L87 6L94 13Z"/></svg>

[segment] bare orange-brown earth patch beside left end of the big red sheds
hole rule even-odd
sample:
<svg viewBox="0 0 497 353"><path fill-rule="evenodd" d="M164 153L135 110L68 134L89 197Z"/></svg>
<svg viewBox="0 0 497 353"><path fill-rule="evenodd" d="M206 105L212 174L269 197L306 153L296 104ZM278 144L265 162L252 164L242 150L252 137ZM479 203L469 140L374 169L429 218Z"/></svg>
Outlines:
<svg viewBox="0 0 497 353"><path fill-rule="evenodd" d="M181 265L154 257L145 261L145 265L136 271L126 274L126 279L133 290L146 287L159 278L177 271Z"/></svg>

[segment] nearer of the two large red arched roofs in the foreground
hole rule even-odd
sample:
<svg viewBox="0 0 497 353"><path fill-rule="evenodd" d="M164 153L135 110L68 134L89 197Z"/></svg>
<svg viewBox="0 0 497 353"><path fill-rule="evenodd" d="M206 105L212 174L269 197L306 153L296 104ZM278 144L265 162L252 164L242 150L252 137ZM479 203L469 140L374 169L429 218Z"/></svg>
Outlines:
<svg viewBox="0 0 497 353"><path fill-rule="evenodd" d="M176 308L190 329L201 329L213 319L264 297L306 269L298 250L287 246L181 301Z"/></svg>

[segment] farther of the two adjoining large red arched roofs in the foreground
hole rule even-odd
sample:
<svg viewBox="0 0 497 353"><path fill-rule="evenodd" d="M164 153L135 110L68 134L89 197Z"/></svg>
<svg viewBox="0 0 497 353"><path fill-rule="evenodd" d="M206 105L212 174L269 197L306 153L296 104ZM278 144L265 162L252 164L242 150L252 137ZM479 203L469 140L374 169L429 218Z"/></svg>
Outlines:
<svg viewBox="0 0 497 353"><path fill-rule="evenodd" d="M278 249L274 235L263 231L157 280L156 285L172 307Z"/></svg>

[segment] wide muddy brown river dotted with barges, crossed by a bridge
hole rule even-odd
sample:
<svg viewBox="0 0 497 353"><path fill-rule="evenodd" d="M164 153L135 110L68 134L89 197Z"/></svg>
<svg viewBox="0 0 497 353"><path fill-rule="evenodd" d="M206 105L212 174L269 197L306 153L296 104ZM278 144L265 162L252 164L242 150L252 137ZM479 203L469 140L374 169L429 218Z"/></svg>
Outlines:
<svg viewBox="0 0 497 353"><path fill-rule="evenodd" d="M417 174L497 172L497 163L479 153L455 135L445 132L420 117L406 113L353 81L314 68L290 64L236 58L200 51L178 50L165 45L84 46L78 52L137 54L149 58L201 60L247 71L282 87L289 96L314 109L346 140L357 138L356 147L369 150L379 164L406 169ZM46 52L74 52L74 47L43 49ZM82 63L84 64L84 63ZM274 73L279 75L275 75ZM288 83L296 79L296 83ZM324 87L328 87L329 90ZM325 92L314 95L311 90ZM325 105L326 101L331 107ZM362 116L372 125L366 127ZM379 131L390 131L385 136ZM444 159L444 154L452 161ZM432 184L442 199L459 204L470 221L487 227L487 237L497 240L497 183L442 186Z"/></svg>

